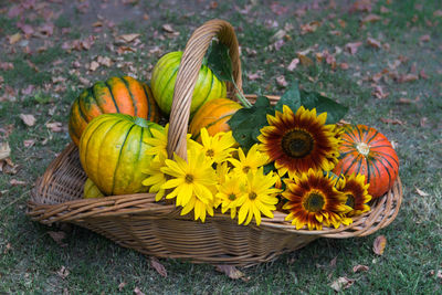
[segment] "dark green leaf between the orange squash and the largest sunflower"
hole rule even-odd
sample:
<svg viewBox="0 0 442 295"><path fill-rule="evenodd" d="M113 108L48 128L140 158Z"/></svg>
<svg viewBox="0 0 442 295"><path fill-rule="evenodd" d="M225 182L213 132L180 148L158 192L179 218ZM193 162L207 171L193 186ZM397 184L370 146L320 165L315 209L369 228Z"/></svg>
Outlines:
<svg viewBox="0 0 442 295"><path fill-rule="evenodd" d="M228 124L233 137L245 150L259 143L260 129L267 125L267 114L274 115L274 107L265 96L256 98L250 108L241 108L230 118Z"/></svg>

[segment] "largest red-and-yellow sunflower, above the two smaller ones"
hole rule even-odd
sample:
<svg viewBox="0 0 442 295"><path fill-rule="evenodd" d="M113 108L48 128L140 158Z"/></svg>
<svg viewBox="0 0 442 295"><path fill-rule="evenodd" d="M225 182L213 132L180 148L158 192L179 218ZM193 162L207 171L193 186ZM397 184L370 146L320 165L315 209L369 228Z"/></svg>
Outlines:
<svg viewBox="0 0 442 295"><path fill-rule="evenodd" d="M301 106L296 114L284 105L283 113L267 115L270 126L261 129L257 139L261 150L275 161L280 176L288 171L290 177L299 172L333 170L338 159L339 129L325 125L327 113L316 116L316 109Z"/></svg>

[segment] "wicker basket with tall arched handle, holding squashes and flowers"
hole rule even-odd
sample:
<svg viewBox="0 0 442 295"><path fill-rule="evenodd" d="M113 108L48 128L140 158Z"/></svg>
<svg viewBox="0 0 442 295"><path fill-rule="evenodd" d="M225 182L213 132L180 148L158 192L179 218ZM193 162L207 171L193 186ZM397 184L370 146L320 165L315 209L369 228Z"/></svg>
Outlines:
<svg viewBox="0 0 442 295"><path fill-rule="evenodd" d="M168 152L186 157L186 134L194 83L211 40L218 36L230 48L234 77L241 87L239 46L233 28L212 20L197 29L186 45L178 72L170 115ZM233 95L232 85L228 85ZM249 96L253 99L253 96ZM277 96L271 97L274 102ZM322 231L296 230L282 212L263 218L260 226L238 225L230 214L215 213L206 223L180 215L175 204L155 202L151 193L83 199L86 175L78 150L70 144L36 181L28 214L43 224L70 222L105 235L117 244L158 257L187 259L194 263L253 265L297 250L318 238L364 236L390 224L398 214L402 189L393 188L376 199L371 210L352 224Z"/></svg>

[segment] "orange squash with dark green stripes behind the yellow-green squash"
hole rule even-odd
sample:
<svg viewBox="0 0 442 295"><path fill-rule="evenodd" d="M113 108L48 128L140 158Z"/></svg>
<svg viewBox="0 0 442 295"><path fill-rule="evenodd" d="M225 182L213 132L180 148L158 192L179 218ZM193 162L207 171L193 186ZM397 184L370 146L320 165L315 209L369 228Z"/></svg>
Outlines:
<svg viewBox="0 0 442 295"><path fill-rule="evenodd" d="M75 145L87 123L102 114L122 113L151 122L160 118L149 86L133 77L110 77L84 89L71 107L69 133Z"/></svg>

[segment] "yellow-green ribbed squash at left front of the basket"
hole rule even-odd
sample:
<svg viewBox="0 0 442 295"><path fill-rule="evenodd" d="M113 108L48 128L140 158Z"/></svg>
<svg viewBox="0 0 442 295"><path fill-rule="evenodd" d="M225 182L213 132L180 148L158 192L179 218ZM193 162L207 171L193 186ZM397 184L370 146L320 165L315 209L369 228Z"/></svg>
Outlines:
<svg viewBox="0 0 442 295"><path fill-rule="evenodd" d="M156 123L124 114L104 114L90 122L78 145L80 161L97 188L107 196L146 191L141 172L152 156L145 140Z"/></svg>

